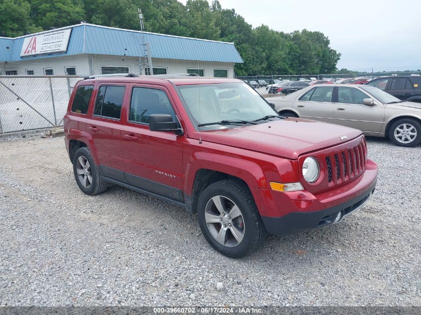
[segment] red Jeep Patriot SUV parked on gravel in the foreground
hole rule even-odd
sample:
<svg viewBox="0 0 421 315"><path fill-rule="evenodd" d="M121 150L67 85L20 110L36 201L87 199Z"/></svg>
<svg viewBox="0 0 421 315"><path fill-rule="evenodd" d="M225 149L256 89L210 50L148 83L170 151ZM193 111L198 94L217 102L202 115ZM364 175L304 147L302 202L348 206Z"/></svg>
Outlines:
<svg viewBox="0 0 421 315"><path fill-rule="evenodd" d="M82 80L64 132L85 194L113 183L184 207L229 257L256 249L268 232L341 221L377 181L360 130L279 116L234 79Z"/></svg>

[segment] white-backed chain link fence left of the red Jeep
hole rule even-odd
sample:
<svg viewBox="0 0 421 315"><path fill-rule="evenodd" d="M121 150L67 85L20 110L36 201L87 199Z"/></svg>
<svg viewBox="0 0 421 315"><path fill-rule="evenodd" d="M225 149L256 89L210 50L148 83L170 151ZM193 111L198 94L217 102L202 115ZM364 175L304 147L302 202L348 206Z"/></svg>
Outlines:
<svg viewBox="0 0 421 315"><path fill-rule="evenodd" d="M0 76L0 133L62 126L79 76Z"/></svg>

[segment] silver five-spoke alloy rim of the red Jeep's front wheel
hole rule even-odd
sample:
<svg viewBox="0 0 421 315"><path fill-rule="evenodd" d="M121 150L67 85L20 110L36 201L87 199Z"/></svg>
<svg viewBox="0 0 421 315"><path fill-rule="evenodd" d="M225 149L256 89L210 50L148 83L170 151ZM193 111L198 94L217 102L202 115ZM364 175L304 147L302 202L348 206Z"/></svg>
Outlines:
<svg viewBox="0 0 421 315"><path fill-rule="evenodd" d="M244 218L240 208L225 196L212 197L206 204L205 221L218 243L235 247L244 238Z"/></svg>

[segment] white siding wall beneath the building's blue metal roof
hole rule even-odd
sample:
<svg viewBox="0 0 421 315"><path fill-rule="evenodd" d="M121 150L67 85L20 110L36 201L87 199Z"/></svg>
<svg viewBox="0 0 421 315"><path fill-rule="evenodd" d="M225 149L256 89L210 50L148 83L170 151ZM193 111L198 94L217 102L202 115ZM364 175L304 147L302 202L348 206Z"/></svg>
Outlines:
<svg viewBox="0 0 421 315"><path fill-rule="evenodd" d="M90 75L90 59L92 58L94 75L101 74L101 66L129 66L131 73L139 74L139 58L127 56L109 55L76 55L65 57L50 57L34 60L22 60L18 62L0 63L0 71L16 70L18 75L25 75L25 69L33 69L34 75L44 75L44 68L52 68L54 75L64 75L64 67L76 67L76 74ZM234 77L234 64L227 62L204 62L178 59L152 58L153 67L168 68L167 73L187 73L187 68L205 69L205 77L213 77L215 69L227 69L228 78ZM143 72L144 73L144 72Z"/></svg>

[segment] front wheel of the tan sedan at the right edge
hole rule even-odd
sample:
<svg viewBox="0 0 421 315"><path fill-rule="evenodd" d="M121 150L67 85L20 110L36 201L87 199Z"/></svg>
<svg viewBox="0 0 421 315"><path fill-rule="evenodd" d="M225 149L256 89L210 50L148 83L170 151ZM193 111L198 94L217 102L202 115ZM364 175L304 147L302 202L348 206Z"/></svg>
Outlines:
<svg viewBox="0 0 421 315"><path fill-rule="evenodd" d="M389 128L389 139L399 146L416 146L421 142L421 123L411 118L398 119Z"/></svg>

